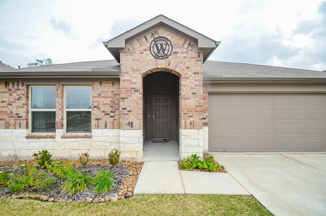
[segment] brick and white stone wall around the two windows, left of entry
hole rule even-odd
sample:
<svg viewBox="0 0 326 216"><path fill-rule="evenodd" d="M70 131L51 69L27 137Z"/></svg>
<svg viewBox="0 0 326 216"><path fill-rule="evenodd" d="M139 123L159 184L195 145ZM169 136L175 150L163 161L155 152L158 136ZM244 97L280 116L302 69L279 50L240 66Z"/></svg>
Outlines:
<svg viewBox="0 0 326 216"><path fill-rule="evenodd" d="M91 134L64 132L64 86L80 82L50 84L56 86L56 133L34 134L29 131L29 82L0 82L0 159L31 158L42 149L53 157L77 157L88 149L90 156L106 157L111 149L120 149L119 81L87 82L92 86Z"/></svg>

